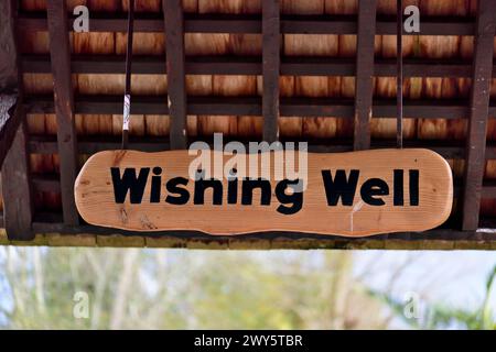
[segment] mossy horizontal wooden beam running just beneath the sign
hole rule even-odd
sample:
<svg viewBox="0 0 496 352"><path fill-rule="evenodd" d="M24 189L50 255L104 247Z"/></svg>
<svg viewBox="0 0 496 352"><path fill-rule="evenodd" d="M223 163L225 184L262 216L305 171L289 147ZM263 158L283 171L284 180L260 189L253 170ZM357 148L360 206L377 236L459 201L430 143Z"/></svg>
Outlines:
<svg viewBox="0 0 496 352"><path fill-rule="evenodd" d="M45 244L58 245L88 245L90 234L97 238L96 242L104 242L106 237L109 246L119 246L129 243L133 246L143 246L133 241L132 232L98 228L94 226L79 226L67 228L62 223L53 222L56 217L46 215L34 222L33 228L37 233L46 234L41 239ZM485 221L486 222L486 221ZM268 249L339 249L339 250L490 250L495 249L496 234L495 219L487 219L487 227L482 231L460 231L450 224L442 228L411 234L411 240L405 240L406 233L393 233L388 238L379 235L373 238L339 238L334 235L319 235L298 232L265 232L236 237L207 235L198 231L169 231L142 233L148 248L182 248L182 249L211 249L211 250L268 250ZM87 234L82 238L80 233ZM53 237L53 238L52 238ZM112 238L116 239L112 242ZM128 240L129 242L127 242ZM112 244L114 243L114 244ZM35 244L35 243L33 243ZM95 245L95 244L90 244Z"/></svg>

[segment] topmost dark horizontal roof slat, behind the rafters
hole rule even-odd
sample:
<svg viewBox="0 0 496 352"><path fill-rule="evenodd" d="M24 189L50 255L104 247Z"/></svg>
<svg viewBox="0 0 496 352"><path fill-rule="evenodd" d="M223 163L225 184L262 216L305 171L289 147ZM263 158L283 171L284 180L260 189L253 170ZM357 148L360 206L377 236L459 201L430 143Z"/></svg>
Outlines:
<svg viewBox="0 0 496 352"><path fill-rule="evenodd" d="M68 20L69 28L73 19ZM429 18L422 16L422 35L474 35L475 25L471 18ZM46 19L43 13L23 14L20 26L30 31L46 31ZM109 15L95 15L89 21L91 32L126 32L125 16L112 13ZM137 16L136 32L160 32L163 30L163 19L159 15ZM262 24L258 16L251 14L188 14L185 18L184 31L186 33L261 33ZM282 15L281 33L283 34L356 34L357 23L349 15ZM396 34L395 19L379 19L376 34ZM418 33L405 33L418 35Z"/></svg>

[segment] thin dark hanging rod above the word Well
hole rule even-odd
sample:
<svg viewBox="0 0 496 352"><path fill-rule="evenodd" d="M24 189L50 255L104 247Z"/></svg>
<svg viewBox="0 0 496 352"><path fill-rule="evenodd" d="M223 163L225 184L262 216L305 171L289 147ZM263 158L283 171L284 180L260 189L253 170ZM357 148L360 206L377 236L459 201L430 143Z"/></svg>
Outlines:
<svg viewBox="0 0 496 352"><path fill-rule="evenodd" d="M397 36L396 36L396 68L397 68L397 80L396 80L396 142L397 147L403 147L403 1L397 0Z"/></svg>

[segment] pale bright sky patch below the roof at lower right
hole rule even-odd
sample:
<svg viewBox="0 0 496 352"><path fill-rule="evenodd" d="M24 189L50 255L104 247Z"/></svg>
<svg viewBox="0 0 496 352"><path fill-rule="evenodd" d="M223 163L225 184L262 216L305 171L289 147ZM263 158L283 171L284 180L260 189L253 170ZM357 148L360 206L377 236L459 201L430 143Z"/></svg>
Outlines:
<svg viewBox="0 0 496 352"><path fill-rule="evenodd" d="M391 268L401 264L402 273L391 289L398 297L418 292L425 299L466 308L478 307L487 275L496 265L496 252L490 251L364 251L355 252L354 257L356 275L366 267L374 272L364 278L370 287L387 289ZM496 289L490 304L496 309Z"/></svg>

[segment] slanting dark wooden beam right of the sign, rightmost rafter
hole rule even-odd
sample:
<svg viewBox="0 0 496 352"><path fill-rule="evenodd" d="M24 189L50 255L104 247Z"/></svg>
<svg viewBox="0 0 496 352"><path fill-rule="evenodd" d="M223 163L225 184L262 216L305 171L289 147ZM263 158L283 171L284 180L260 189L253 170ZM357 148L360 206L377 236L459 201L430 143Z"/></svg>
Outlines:
<svg viewBox="0 0 496 352"><path fill-rule="evenodd" d="M479 0L474 47L471 114L466 144L465 186L463 190L463 230L478 227L481 191L485 168L489 87L493 69L493 43L496 0Z"/></svg>

